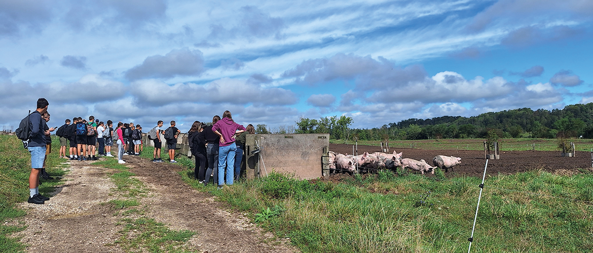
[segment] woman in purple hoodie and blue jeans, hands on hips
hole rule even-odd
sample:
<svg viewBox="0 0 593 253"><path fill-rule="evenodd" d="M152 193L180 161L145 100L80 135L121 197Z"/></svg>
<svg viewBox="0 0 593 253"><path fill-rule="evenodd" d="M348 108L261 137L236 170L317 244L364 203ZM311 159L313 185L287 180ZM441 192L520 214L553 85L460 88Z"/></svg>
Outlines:
<svg viewBox="0 0 593 253"><path fill-rule="evenodd" d="M231 112L225 111L222 114L222 120L216 121L212 126L212 131L221 137L218 148L218 188L224 184L224 172L227 169L227 185L232 185L235 169L235 134L243 133L247 129L232 120ZM227 164L227 166L225 166Z"/></svg>

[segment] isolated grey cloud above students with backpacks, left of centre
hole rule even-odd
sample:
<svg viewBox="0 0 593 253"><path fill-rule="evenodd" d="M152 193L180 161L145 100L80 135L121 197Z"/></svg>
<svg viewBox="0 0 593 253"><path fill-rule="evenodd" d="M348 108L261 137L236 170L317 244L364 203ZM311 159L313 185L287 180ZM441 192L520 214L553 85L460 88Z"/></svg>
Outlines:
<svg viewBox="0 0 593 253"><path fill-rule="evenodd" d="M143 78L173 78L175 76L198 76L205 71L200 50L174 49L167 55L148 56L141 65L126 71L128 80Z"/></svg>

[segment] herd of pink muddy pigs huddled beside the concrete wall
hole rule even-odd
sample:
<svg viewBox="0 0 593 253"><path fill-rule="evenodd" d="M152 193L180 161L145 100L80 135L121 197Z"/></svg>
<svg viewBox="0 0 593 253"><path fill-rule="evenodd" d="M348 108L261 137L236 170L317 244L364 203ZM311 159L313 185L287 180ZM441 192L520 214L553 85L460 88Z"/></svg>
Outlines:
<svg viewBox="0 0 593 253"><path fill-rule="evenodd" d="M432 164L435 166L431 166L423 159L417 161L411 158L401 158L401 156L401 152L397 153L395 151L392 154L382 152L365 152L358 156L343 155L341 153L330 151L330 171L335 172L337 170L352 173L356 171L356 166L358 165L358 167L364 169L396 169L397 167L401 167L403 169L413 169L414 171L422 172L422 174L425 172L435 174L435 168L445 169L445 171L448 171L448 169L452 169L455 165L461 163L461 158L455 156L438 155L432 159Z"/></svg>

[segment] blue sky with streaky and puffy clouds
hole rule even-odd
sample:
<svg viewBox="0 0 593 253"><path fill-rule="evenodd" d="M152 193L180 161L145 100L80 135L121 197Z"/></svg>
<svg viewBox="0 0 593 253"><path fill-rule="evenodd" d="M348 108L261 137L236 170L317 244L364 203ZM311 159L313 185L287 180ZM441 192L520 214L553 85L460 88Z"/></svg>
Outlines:
<svg viewBox="0 0 593 253"><path fill-rule="evenodd" d="M0 124L240 124L593 102L593 1L0 0Z"/></svg>

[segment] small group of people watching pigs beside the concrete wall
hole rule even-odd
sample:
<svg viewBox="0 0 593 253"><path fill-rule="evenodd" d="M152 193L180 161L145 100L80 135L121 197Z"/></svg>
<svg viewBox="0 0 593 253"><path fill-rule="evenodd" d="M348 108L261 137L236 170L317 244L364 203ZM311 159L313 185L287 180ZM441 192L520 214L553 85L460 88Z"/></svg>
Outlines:
<svg viewBox="0 0 593 253"><path fill-rule="evenodd" d="M196 179L208 185L213 175L212 181L222 188L225 181L227 185L232 185L240 178L245 136L247 133L254 134L255 129L251 124L243 127L235 123L230 111L225 111L222 119L214 116L212 123L212 126L207 126L195 121L188 132L188 142L196 158Z"/></svg>

